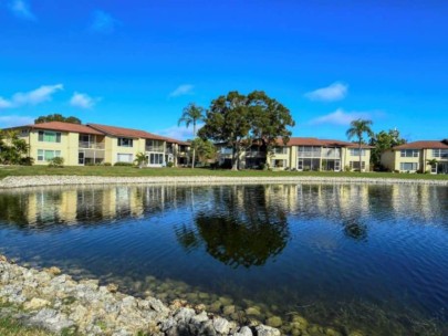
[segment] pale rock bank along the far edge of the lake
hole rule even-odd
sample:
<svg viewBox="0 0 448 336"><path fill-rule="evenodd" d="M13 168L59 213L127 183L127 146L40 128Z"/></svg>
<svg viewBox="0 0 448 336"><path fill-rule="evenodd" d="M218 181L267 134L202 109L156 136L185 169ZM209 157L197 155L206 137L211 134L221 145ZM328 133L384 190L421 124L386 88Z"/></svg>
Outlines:
<svg viewBox="0 0 448 336"><path fill-rule="evenodd" d="M429 185L448 186L448 180L363 178L363 177L100 177L100 176L9 176L0 180L0 189L45 187L45 186L87 186L87 185L254 185L254 183L369 183L369 185Z"/></svg>

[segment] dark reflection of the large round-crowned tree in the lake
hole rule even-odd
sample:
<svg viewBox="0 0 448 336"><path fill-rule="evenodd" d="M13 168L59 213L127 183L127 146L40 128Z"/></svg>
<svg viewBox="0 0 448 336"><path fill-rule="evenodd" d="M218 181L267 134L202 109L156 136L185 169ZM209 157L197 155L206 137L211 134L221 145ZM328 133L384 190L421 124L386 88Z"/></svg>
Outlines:
<svg viewBox="0 0 448 336"><path fill-rule="evenodd" d="M232 267L263 265L290 237L285 211L267 201L264 188L216 188L215 210L196 213L195 228L178 228L179 243L188 251L205 245L211 256Z"/></svg>

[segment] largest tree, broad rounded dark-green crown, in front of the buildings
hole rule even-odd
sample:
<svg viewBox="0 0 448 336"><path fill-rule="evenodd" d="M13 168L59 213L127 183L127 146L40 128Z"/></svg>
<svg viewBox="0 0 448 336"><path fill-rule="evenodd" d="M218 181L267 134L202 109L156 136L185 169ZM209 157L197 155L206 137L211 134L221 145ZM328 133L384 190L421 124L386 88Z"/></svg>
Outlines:
<svg viewBox="0 0 448 336"><path fill-rule="evenodd" d="M258 143L269 149L279 137L288 143L291 136L288 126L294 126L290 111L264 92L254 91L246 96L233 91L211 102L199 136L230 146L232 170L238 170L244 147Z"/></svg>

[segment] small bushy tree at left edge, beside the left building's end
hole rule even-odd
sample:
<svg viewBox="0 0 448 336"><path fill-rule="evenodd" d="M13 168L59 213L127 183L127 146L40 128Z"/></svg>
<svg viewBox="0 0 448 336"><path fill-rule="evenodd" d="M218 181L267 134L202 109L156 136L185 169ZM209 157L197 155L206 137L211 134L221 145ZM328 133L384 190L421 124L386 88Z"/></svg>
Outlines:
<svg viewBox="0 0 448 336"><path fill-rule="evenodd" d="M17 130L0 132L0 162L20 165L28 154L29 145L19 138Z"/></svg>

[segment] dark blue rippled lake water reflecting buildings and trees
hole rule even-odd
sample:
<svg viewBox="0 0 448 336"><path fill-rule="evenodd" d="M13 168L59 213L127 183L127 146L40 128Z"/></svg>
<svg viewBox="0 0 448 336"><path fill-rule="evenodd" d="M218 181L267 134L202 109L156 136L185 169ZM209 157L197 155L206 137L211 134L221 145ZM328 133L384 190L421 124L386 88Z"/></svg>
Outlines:
<svg viewBox="0 0 448 336"><path fill-rule="evenodd" d="M240 322L280 316L285 334L300 314L341 333L448 335L447 187L2 191L0 253Z"/></svg>

